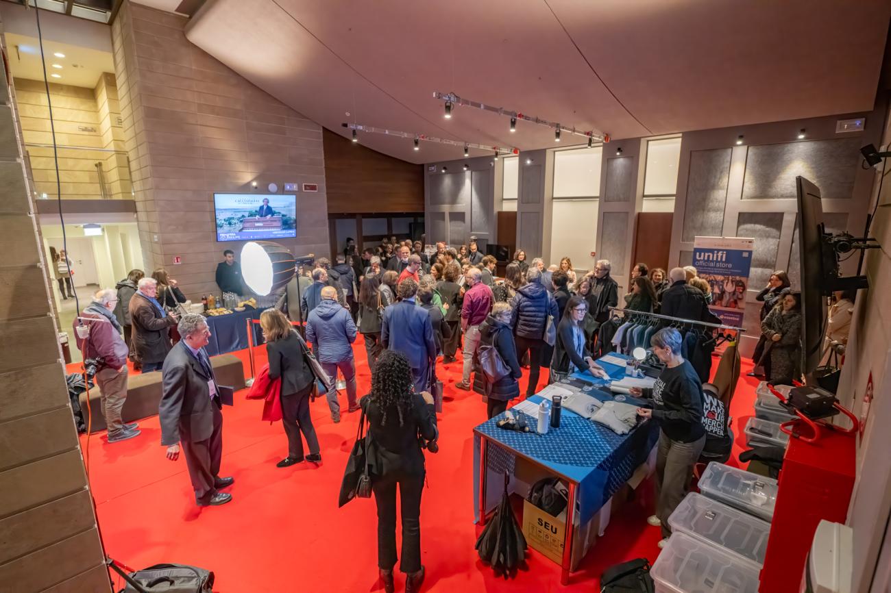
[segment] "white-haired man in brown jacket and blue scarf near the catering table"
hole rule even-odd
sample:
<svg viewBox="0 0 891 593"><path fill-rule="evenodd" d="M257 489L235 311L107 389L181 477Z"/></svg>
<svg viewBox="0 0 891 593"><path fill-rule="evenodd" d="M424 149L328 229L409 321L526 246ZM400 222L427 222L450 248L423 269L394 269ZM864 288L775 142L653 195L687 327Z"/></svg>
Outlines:
<svg viewBox="0 0 891 593"><path fill-rule="evenodd" d="M133 347L136 360L143 365L143 373L148 373L161 369L164 357L170 352L170 327L179 320L158 302L157 280L146 277L136 286L138 289L130 299Z"/></svg>

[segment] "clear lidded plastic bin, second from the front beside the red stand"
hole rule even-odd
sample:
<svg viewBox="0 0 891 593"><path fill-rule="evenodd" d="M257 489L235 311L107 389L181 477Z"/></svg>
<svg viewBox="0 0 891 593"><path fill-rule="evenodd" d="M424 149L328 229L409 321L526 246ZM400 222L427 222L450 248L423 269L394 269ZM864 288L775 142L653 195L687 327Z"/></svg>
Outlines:
<svg viewBox="0 0 891 593"><path fill-rule="evenodd" d="M721 546L757 571L764 565L771 524L722 502L691 492L668 517L668 524L672 533Z"/></svg>

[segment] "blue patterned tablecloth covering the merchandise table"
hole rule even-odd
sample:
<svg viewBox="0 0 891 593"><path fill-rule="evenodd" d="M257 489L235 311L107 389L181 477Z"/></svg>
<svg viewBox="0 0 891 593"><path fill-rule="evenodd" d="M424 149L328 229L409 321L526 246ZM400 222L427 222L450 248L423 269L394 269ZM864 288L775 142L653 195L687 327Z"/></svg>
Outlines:
<svg viewBox="0 0 891 593"><path fill-rule="evenodd" d="M629 358L622 354L613 356ZM605 361L598 361L612 379L625 377L625 368ZM601 402L610 400L626 403L642 403L630 395L615 398L597 386L606 386L608 381L594 378L590 373L574 373L570 378L581 379L592 386L585 390ZM541 402L542 397L533 395L530 402ZM497 426L504 414L491 418L476 426L473 433L474 473L473 497L474 519L479 520L479 451L480 435L493 443L486 451L486 466L496 473L514 471L515 455L520 454L535 459L543 467L564 479L579 484L576 495L579 501L581 524L587 523L613 494L628 481L650 455L658 438L658 427L654 422L639 424L627 435L617 435L607 426L582 418L564 408L560 416L560 428L550 428L546 435L535 432L537 418L526 416L530 432L518 433ZM486 510L492 500L500 500L502 481L488 480L486 483ZM494 506L494 505L493 505Z"/></svg>

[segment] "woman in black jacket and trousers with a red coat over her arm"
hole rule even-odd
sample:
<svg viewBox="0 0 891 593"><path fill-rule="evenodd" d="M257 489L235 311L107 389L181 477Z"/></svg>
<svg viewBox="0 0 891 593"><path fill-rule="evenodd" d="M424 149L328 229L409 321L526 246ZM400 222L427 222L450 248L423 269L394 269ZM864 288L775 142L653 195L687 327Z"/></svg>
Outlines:
<svg viewBox="0 0 891 593"><path fill-rule="evenodd" d="M288 435L288 457L275 467L289 467L303 461L302 432L307 439L307 461L319 463L319 439L315 436L313 419L309 415L309 394L313 390L312 371L303 357L303 346L290 321L278 309L266 309L260 313L260 328L266 338L266 354L269 357L269 378L282 381L282 426Z"/></svg>

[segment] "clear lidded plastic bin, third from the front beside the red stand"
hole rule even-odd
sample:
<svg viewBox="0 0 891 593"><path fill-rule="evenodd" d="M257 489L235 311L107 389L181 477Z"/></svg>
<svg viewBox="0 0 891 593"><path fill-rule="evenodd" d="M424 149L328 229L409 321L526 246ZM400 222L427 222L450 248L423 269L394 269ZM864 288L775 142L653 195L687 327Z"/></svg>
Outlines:
<svg viewBox="0 0 891 593"><path fill-rule="evenodd" d="M708 498L761 517L764 521L773 518L778 490L776 480L715 461L708 464L699 478L699 491Z"/></svg>

